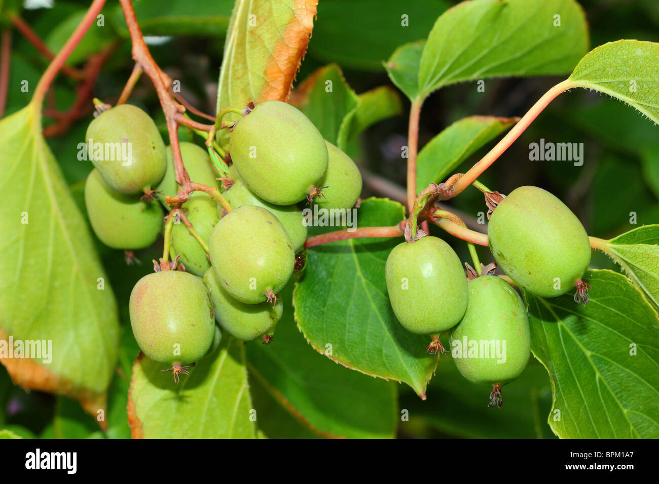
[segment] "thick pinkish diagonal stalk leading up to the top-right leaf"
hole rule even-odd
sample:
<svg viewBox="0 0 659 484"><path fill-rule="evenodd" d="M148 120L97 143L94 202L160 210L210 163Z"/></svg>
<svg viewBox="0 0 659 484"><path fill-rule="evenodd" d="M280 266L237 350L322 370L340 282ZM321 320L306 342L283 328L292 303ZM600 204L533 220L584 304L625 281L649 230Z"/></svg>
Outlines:
<svg viewBox="0 0 659 484"><path fill-rule="evenodd" d="M503 154L503 152L519 138L519 136L524 132L526 128L538 117L542 110L547 107L547 105L552 102L559 94L573 88L574 85L569 80L564 80L559 82L553 88L548 90L538 101L527 111L527 113L513 126L513 128L507 132L505 136L501 139L500 142L490 149L490 152L487 153L484 157L476 163L465 175L461 176L459 180L453 185L453 196L460 194L467 186L473 184L476 181L476 178L480 176L498 157ZM411 151L411 150L410 150ZM409 171L408 171L409 176ZM409 186L409 180L408 180Z"/></svg>

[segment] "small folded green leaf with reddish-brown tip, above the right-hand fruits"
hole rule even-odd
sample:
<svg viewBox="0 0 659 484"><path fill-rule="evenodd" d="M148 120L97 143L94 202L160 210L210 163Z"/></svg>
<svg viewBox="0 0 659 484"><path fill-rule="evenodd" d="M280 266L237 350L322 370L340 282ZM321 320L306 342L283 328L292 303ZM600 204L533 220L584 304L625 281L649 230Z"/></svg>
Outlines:
<svg viewBox="0 0 659 484"><path fill-rule="evenodd" d="M454 122L418 153L416 191L440 183L474 151L513 126L516 118L471 116Z"/></svg>

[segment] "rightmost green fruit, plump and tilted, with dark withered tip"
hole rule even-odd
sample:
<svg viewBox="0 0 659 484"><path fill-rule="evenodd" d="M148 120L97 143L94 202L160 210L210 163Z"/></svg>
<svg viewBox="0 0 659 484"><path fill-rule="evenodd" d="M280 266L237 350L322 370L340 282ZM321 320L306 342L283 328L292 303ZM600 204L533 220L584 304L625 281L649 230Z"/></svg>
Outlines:
<svg viewBox="0 0 659 484"><path fill-rule="evenodd" d="M536 186L521 186L501 200L488 223L488 238L510 279L544 298L571 290L590 263L590 242L579 219Z"/></svg>

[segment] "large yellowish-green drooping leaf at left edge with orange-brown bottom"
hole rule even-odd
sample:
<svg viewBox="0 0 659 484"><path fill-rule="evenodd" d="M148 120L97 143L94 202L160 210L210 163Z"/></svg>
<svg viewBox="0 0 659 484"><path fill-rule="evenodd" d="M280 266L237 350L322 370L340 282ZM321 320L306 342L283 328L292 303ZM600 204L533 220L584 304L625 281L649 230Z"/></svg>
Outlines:
<svg viewBox="0 0 659 484"><path fill-rule="evenodd" d="M0 170L0 339L52 342L50 363L1 362L18 385L76 398L96 415L117 361L117 308L34 103L0 122Z"/></svg>

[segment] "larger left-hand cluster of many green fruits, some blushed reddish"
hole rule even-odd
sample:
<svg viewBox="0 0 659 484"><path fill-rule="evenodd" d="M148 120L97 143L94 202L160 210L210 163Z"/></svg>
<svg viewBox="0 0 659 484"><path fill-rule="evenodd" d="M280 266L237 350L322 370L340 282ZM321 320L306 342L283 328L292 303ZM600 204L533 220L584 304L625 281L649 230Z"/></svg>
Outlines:
<svg viewBox="0 0 659 484"><path fill-rule="evenodd" d="M179 192L171 149L154 121L130 105L101 113L87 138L101 146L132 146L128 164L92 158L96 169L85 187L92 229L112 248L150 246L163 227L163 209L152 199L169 209L165 195ZM309 221L298 204L349 209L362 188L352 159L326 142L304 114L279 101L260 103L233 126L229 173L220 173L195 144L180 148L190 180L223 192L231 211L205 192L189 194L180 208L193 229L171 225L169 255L181 262L179 270L157 265L130 295L140 349L171 364L177 381L186 363L217 348L221 330L270 342L282 313L277 294L307 236Z"/></svg>

